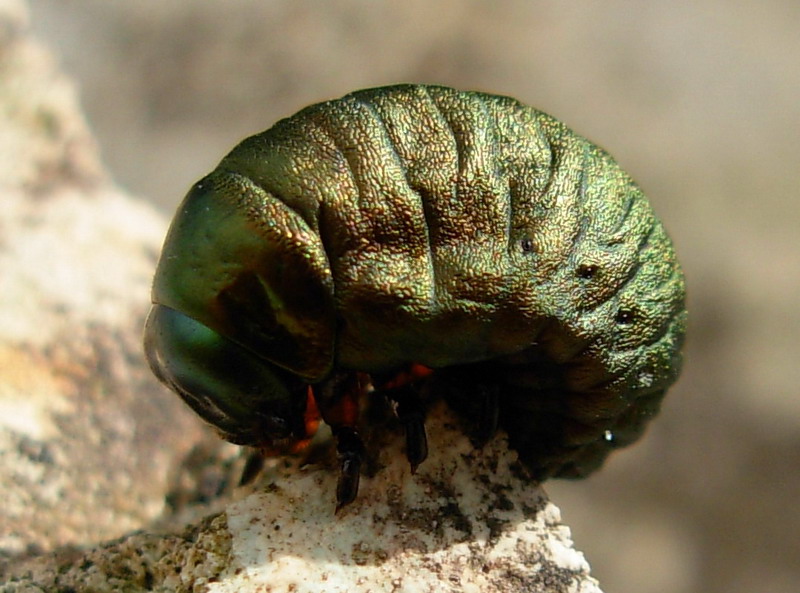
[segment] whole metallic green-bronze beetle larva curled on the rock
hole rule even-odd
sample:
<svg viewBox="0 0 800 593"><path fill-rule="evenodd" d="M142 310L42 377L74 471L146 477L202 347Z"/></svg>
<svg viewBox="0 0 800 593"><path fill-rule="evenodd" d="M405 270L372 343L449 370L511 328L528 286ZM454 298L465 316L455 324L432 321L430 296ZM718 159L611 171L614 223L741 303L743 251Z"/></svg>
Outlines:
<svg viewBox="0 0 800 593"><path fill-rule="evenodd" d="M247 138L189 192L153 287L155 374L221 435L287 451L318 408L341 506L358 402L419 391L496 426L536 479L582 476L639 437L686 326L672 244L602 149L508 98L364 90Z"/></svg>

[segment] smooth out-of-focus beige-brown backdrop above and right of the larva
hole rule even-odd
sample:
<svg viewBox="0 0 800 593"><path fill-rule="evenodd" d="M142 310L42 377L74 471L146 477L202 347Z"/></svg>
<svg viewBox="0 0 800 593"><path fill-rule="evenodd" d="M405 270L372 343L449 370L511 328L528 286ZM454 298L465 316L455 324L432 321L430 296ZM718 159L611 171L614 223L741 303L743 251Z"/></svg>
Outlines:
<svg viewBox="0 0 800 593"><path fill-rule="evenodd" d="M512 95L642 185L687 363L635 447L546 486L608 593L800 582L800 3L31 0L117 182L171 215L241 138L362 87Z"/></svg>

